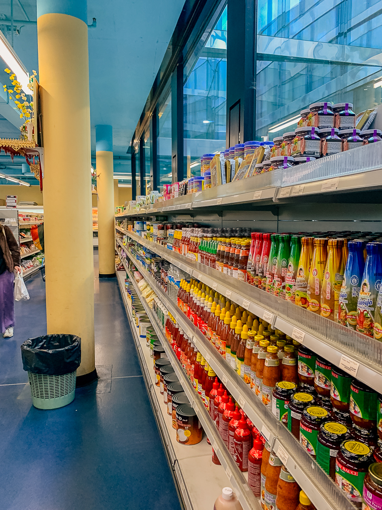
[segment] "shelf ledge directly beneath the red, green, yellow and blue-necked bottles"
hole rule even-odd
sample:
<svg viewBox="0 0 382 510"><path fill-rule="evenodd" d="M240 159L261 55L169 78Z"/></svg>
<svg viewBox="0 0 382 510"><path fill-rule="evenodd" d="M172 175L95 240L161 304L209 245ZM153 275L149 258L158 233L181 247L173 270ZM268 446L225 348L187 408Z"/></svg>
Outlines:
<svg viewBox="0 0 382 510"><path fill-rule="evenodd" d="M381 144L382 145L382 144ZM190 261L179 253L124 231L163 259L202 281L243 308L265 319L275 329L303 343L332 364L380 392L382 388L382 343L318 316L256 287Z"/></svg>

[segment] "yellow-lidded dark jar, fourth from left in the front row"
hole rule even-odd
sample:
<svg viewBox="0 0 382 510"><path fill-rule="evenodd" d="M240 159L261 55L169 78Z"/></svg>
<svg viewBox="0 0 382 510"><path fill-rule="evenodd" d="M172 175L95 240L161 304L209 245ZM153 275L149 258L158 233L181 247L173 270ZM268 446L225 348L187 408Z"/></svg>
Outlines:
<svg viewBox="0 0 382 510"><path fill-rule="evenodd" d="M337 453L348 437L349 429L342 423L327 421L321 424L317 436L317 462L333 480L336 479Z"/></svg>

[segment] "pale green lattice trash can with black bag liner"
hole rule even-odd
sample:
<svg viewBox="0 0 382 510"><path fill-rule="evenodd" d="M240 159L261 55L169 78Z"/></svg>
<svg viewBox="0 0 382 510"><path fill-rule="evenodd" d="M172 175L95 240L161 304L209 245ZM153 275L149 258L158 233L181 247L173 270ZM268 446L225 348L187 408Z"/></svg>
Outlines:
<svg viewBox="0 0 382 510"><path fill-rule="evenodd" d="M81 363L81 339L76 335L45 335L21 345L22 366L28 372L32 402L38 409L57 409L74 399Z"/></svg>

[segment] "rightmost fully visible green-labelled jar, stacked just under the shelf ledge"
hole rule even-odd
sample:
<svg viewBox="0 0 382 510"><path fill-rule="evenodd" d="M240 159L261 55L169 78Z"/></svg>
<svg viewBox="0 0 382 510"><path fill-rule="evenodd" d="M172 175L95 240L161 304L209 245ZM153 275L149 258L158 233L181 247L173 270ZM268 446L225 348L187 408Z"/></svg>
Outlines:
<svg viewBox="0 0 382 510"><path fill-rule="evenodd" d="M355 425L362 428L377 426L378 395L357 379L350 385L350 417Z"/></svg>

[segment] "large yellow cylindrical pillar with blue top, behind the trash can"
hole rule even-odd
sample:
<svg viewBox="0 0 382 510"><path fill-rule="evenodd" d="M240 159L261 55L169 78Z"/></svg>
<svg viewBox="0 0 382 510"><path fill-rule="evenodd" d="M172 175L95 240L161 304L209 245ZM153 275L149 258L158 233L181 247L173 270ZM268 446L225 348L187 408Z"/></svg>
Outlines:
<svg viewBox="0 0 382 510"><path fill-rule="evenodd" d="M37 18L47 332L81 338L84 383L96 377L86 0L37 0Z"/></svg>

